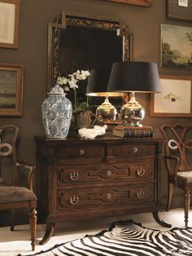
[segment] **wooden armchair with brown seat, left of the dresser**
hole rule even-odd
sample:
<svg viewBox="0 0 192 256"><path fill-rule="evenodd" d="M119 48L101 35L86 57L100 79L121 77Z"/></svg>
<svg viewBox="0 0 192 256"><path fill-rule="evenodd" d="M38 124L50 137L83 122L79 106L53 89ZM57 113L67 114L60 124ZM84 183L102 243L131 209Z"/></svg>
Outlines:
<svg viewBox="0 0 192 256"><path fill-rule="evenodd" d="M15 210L28 210L31 245L34 250L37 226L37 196L33 193L32 188L34 166L17 161L16 140L18 135L18 127L0 126L0 210L11 210L11 231L14 230ZM23 172L28 170L27 188L20 186L21 170ZM25 177L24 174L23 176Z"/></svg>

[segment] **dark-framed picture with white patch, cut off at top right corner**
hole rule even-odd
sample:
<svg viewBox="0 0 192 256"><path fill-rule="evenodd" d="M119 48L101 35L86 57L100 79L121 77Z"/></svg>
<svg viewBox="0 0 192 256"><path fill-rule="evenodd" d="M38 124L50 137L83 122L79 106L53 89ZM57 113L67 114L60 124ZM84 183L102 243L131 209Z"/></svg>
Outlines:
<svg viewBox="0 0 192 256"><path fill-rule="evenodd" d="M167 0L167 18L172 20L192 21L191 0Z"/></svg>

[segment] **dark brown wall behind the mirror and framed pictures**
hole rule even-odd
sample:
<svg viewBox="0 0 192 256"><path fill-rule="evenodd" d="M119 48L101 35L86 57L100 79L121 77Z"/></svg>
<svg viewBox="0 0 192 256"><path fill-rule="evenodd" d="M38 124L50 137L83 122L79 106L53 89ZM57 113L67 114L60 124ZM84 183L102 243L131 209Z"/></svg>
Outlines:
<svg viewBox="0 0 192 256"><path fill-rule="evenodd" d="M0 48L0 62L24 64L24 115L0 117L0 124L13 123L20 127L19 158L35 164L33 135L42 135L41 103L46 97L47 24L59 17L61 11L104 15L120 19L133 33L133 60L151 61L159 66L160 74L191 75L183 68L160 68L160 24L190 26L190 23L167 20L165 0L152 0L152 7L137 7L103 0L20 0L19 49ZM137 99L149 111L149 95ZM144 124L152 125L155 134L164 122L183 121L191 118L159 118L146 114Z"/></svg>

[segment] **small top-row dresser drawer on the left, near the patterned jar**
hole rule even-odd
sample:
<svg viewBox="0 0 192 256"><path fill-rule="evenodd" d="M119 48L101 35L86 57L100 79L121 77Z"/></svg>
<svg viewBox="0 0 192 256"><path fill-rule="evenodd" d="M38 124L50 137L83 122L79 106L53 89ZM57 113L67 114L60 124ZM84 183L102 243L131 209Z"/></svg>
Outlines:
<svg viewBox="0 0 192 256"><path fill-rule="evenodd" d="M55 157L59 159L66 158L81 158L86 157L105 157L106 156L106 147L103 144L94 145L89 144L72 144L65 147L63 145L58 145L55 148Z"/></svg>

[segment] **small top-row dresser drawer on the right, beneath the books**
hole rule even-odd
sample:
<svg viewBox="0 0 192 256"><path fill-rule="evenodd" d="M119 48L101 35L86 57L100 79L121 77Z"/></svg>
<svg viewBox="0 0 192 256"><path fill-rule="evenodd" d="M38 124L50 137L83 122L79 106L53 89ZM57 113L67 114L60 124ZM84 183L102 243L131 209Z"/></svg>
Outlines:
<svg viewBox="0 0 192 256"><path fill-rule="evenodd" d="M116 144L113 157L155 155L155 144Z"/></svg>

